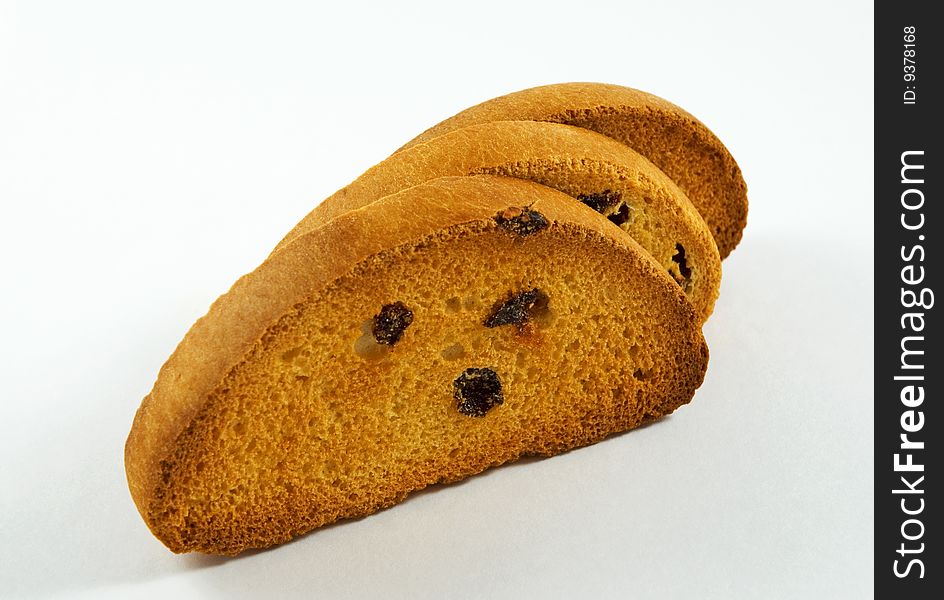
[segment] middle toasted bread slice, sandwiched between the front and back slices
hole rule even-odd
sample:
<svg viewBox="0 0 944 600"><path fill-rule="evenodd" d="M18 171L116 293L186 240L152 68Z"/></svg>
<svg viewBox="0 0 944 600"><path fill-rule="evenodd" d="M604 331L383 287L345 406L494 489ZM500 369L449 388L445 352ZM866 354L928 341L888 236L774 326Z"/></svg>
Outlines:
<svg viewBox="0 0 944 600"><path fill-rule="evenodd" d="M315 207L282 244L344 212L430 179L482 173L529 179L581 199L655 257L702 321L711 314L721 286L721 258L685 194L624 144L557 123L482 123L398 152Z"/></svg>

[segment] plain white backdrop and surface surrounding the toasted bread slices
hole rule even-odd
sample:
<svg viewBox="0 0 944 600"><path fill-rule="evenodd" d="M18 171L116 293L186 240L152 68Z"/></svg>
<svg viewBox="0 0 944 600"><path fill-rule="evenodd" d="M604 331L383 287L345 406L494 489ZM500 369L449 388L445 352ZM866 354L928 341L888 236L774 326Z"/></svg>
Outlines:
<svg viewBox="0 0 944 600"><path fill-rule="evenodd" d="M821 0L0 3L0 596L870 595L872 25ZM266 552L167 551L122 449L191 323L426 127L575 80L685 107L747 179L694 401Z"/></svg>

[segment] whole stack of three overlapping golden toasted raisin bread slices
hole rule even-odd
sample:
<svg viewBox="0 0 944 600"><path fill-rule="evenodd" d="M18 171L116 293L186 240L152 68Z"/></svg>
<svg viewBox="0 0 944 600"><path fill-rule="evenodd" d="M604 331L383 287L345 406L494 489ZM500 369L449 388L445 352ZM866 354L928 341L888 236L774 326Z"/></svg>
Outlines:
<svg viewBox="0 0 944 600"><path fill-rule="evenodd" d="M636 90L470 108L319 204L200 319L135 417L132 496L235 554L687 403L741 237L724 146Z"/></svg>

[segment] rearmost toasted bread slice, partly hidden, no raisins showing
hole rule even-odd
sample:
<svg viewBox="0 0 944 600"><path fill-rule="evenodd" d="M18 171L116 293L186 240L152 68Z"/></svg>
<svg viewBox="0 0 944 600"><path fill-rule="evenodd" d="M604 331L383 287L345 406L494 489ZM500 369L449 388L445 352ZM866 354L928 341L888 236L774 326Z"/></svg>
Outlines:
<svg viewBox="0 0 944 600"><path fill-rule="evenodd" d="M618 140L662 169L701 212L721 258L741 241L747 185L724 144L698 119L658 96L603 83L561 83L501 96L426 130L409 148L487 121L551 121Z"/></svg>

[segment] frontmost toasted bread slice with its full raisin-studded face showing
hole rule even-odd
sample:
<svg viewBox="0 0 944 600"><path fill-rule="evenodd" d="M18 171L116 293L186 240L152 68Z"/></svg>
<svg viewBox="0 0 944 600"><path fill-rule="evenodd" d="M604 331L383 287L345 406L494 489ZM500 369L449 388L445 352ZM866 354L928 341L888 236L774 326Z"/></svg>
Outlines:
<svg viewBox="0 0 944 600"><path fill-rule="evenodd" d="M128 483L171 550L235 554L668 414L707 360L675 282L588 207L435 180L220 297L135 416Z"/></svg>

